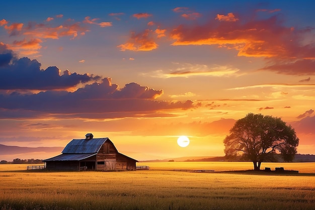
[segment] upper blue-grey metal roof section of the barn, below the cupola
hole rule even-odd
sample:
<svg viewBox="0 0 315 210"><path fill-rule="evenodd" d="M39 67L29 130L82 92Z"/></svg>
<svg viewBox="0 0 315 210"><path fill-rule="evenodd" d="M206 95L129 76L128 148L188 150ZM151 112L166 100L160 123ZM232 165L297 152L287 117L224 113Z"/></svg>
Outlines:
<svg viewBox="0 0 315 210"><path fill-rule="evenodd" d="M97 153L107 140L109 139L73 139L67 144L67 146L65 146L62 153Z"/></svg>

